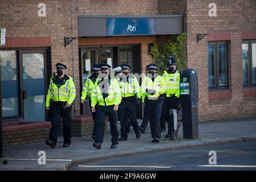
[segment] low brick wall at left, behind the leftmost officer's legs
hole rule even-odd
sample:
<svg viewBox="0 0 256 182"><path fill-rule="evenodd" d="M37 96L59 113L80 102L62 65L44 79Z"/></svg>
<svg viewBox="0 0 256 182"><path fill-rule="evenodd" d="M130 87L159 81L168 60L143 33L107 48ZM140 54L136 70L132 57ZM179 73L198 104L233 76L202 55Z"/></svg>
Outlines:
<svg viewBox="0 0 256 182"><path fill-rule="evenodd" d="M92 117L80 115L73 118L73 137L92 136ZM15 146L34 142L44 142L48 139L51 122L3 122L3 146ZM105 123L105 133L108 132L108 123ZM63 135L63 121L60 122L60 135Z"/></svg>

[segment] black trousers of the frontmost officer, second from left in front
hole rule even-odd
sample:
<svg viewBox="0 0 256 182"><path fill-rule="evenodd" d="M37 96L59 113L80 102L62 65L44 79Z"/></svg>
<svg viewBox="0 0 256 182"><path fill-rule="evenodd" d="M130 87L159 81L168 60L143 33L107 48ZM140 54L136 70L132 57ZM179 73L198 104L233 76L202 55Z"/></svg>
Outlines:
<svg viewBox="0 0 256 182"><path fill-rule="evenodd" d="M104 138L105 120L109 117L110 133L112 143L118 144L117 111L113 110L114 105L98 105L96 111L96 143L102 143Z"/></svg>

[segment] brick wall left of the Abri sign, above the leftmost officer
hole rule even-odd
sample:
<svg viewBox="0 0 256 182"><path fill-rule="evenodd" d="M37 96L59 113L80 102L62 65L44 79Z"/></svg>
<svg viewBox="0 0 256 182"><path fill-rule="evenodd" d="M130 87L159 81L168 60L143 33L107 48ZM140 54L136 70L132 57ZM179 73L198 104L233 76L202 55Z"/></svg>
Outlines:
<svg viewBox="0 0 256 182"><path fill-rule="evenodd" d="M71 36L71 5L69 0L46 0L46 17L38 16L38 5L41 1L14 1L0 2L0 27L6 27L6 38L35 38L51 39L51 71L56 72L55 64L67 65L67 75L73 77L71 44L64 47L64 36ZM77 4L73 1L73 36L77 37ZM79 96L79 52L78 41L73 42L75 61L75 85L77 90L76 110L80 111ZM1 46L0 46L1 48Z"/></svg>

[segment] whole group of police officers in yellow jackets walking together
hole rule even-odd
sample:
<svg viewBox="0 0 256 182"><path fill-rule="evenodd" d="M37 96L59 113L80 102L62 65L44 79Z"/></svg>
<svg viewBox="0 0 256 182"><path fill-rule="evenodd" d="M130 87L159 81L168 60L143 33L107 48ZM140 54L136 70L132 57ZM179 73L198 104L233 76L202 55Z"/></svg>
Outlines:
<svg viewBox="0 0 256 182"><path fill-rule="evenodd" d="M166 129L166 138L177 139L179 129L177 111L180 97L180 74L176 68L174 56L168 59L168 70L163 76L158 73L156 64L147 65L147 76L143 78L141 86L137 78L130 73L130 65L122 64L121 72L115 77L110 76L110 65L94 65L92 75L86 79L82 89L81 104L85 98L89 99L94 127L92 138L93 147L101 149L104 139L105 120L108 116L112 145L117 148L118 141L127 140L129 123L133 127L136 138L145 133L150 122L152 142L159 142L161 132ZM69 147L72 137L71 104L75 100L76 89L71 77L64 74L67 67L56 64L57 75L52 77L47 93L46 109L51 106L52 127L46 144L55 147L60 130L60 119L63 118L64 144ZM144 116L141 126L137 122L136 105L142 101ZM120 121L121 137L118 138L117 122Z"/></svg>

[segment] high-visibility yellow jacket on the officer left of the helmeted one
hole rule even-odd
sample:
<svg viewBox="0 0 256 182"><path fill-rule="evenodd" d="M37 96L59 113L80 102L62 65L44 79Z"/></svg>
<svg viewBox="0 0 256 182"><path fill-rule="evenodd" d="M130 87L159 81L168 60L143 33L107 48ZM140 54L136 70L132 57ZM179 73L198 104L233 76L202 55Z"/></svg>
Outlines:
<svg viewBox="0 0 256 182"><path fill-rule="evenodd" d="M155 90L155 94L152 95L150 93L147 93L147 89ZM166 92L166 82L164 81L162 76L158 75L158 77L155 78L154 82L150 77L144 77L141 84L141 97L143 103L145 97L147 97L148 100L157 100L161 94L164 94L164 92Z"/></svg>

